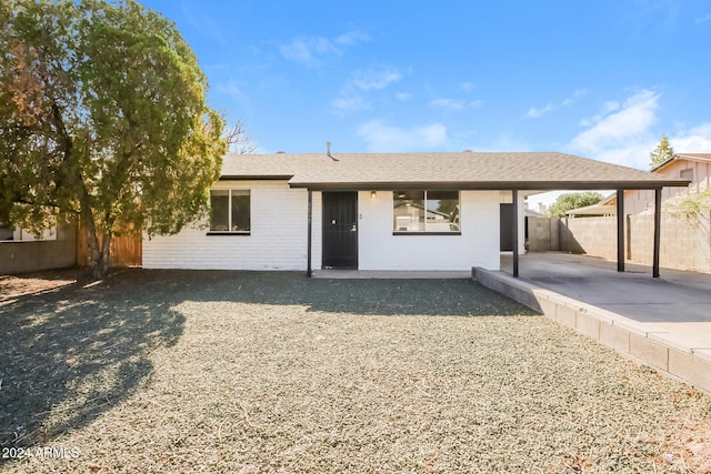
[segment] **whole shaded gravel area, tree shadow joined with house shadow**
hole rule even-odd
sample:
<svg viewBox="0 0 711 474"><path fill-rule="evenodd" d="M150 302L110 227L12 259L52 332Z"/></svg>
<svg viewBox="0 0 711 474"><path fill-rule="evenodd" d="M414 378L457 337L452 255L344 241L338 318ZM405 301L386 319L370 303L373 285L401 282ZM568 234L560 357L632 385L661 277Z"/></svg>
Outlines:
<svg viewBox="0 0 711 474"><path fill-rule="evenodd" d="M34 292L0 297L0 446L47 442L139 391L150 379L151 351L181 336L184 316L174 307L184 301L304 305L353 315L534 314L470 280L127 269L98 283L77 271L63 280L50 273L47 281Z"/></svg>

